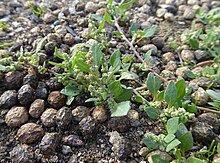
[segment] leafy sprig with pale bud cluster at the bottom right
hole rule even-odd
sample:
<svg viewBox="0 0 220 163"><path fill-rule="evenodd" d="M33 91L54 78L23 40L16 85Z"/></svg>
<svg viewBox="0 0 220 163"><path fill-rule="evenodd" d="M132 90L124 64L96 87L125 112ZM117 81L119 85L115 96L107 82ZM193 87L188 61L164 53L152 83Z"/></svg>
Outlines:
<svg viewBox="0 0 220 163"><path fill-rule="evenodd" d="M177 158L185 155L193 147L193 137L185 125L179 121L179 117L171 118L166 123L166 134L158 136L146 133L143 139L145 145L150 149L160 149L172 152Z"/></svg>

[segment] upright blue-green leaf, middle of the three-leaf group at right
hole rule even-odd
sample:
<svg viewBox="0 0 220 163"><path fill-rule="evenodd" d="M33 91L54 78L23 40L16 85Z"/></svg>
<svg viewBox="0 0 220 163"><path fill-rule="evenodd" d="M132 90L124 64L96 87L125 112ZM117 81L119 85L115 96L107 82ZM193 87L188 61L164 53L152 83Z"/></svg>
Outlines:
<svg viewBox="0 0 220 163"><path fill-rule="evenodd" d="M171 107L176 102L176 99L176 86L173 81L170 81L164 93L164 100L168 103L168 107Z"/></svg>

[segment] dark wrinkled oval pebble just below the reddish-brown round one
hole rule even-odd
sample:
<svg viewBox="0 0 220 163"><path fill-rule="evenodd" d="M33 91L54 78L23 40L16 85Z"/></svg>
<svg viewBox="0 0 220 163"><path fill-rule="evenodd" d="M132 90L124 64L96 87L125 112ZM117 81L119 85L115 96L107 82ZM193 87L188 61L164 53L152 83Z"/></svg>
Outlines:
<svg viewBox="0 0 220 163"><path fill-rule="evenodd" d="M71 109L68 107L62 107L57 111L56 124L59 129L66 130L71 124L73 119Z"/></svg>

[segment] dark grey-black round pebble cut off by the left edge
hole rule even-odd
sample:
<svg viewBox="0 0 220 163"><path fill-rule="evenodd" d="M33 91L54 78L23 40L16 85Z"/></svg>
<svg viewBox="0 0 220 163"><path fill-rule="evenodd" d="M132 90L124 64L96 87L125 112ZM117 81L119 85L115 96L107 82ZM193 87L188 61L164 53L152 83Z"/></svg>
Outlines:
<svg viewBox="0 0 220 163"><path fill-rule="evenodd" d="M10 109L17 103L17 91L16 90L8 90L5 91L0 96L0 108L1 109Z"/></svg>

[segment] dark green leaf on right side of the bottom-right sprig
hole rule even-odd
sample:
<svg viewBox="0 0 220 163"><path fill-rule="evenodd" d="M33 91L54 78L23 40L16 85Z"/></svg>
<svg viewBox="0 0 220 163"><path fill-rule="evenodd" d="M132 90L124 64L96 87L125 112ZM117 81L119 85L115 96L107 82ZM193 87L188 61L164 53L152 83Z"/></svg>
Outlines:
<svg viewBox="0 0 220 163"><path fill-rule="evenodd" d="M191 132L187 132L187 133L185 133L184 135L182 135L182 136L179 138L179 141L181 142L180 148L181 148L184 152L186 152L186 151L192 149L192 147L193 147L193 137L192 137Z"/></svg>

